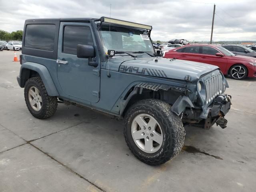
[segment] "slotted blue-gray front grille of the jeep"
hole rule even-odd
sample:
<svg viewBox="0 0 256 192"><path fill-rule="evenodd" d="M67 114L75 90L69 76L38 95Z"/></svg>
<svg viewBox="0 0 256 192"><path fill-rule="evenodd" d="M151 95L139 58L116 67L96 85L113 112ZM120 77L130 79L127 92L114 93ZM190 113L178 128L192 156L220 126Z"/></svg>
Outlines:
<svg viewBox="0 0 256 192"><path fill-rule="evenodd" d="M210 104L214 98L222 93L222 75L214 74L205 81L206 104Z"/></svg>

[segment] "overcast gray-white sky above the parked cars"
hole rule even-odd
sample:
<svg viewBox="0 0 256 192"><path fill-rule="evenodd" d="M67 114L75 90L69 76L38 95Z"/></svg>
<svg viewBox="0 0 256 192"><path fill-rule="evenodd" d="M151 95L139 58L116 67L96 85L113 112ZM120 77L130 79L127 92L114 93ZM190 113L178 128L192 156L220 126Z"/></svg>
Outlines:
<svg viewBox="0 0 256 192"><path fill-rule="evenodd" d="M210 40L215 3L214 41L256 40L256 0L0 0L0 29L23 30L29 18L109 16L110 3L112 18L152 25L152 40L190 41Z"/></svg>

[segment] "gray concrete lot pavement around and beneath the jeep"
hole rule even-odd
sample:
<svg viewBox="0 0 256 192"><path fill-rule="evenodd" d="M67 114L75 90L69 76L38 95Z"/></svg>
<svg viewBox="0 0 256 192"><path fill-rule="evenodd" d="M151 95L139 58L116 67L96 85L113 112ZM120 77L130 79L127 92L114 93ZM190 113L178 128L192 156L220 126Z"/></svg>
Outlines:
<svg viewBox="0 0 256 192"><path fill-rule="evenodd" d="M63 104L51 118L34 118L13 54L0 52L1 192L255 191L256 79L227 78L233 105L226 129L187 127L182 152L148 166L126 146L122 121Z"/></svg>

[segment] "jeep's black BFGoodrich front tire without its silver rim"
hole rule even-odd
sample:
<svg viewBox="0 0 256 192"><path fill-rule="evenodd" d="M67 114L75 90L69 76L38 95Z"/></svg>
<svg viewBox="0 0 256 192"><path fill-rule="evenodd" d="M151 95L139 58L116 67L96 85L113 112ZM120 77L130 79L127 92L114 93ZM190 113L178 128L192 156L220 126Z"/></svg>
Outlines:
<svg viewBox="0 0 256 192"><path fill-rule="evenodd" d="M142 151L132 138L131 125L138 114L149 114L154 117L162 129L162 146L154 153ZM156 99L138 101L127 110L124 119L126 144L140 161L149 165L160 165L174 158L181 151L186 135L184 126L166 102Z"/></svg>

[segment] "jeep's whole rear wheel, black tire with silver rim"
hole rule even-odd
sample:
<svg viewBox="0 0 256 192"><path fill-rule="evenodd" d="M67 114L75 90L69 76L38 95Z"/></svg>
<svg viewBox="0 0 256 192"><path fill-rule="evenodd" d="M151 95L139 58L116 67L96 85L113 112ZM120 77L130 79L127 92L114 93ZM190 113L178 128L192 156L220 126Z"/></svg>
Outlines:
<svg viewBox="0 0 256 192"><path fill-rule="evenodd" d="M57 110L57 97L48 95L40 77L32 77L27 80L24 96L28 110L38 119L48 118Z"/></svg>

